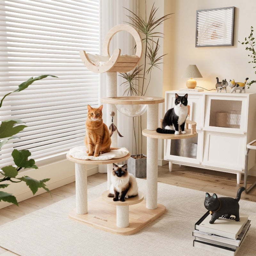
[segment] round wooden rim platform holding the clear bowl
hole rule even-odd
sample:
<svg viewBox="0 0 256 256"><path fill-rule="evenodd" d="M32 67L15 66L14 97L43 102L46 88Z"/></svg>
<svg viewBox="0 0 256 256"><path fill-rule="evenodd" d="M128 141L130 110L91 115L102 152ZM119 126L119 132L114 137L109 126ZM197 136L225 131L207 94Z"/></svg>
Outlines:
<svg viewBox="0 0 256 256"><path fill-rule="evenodd" d="M122 104L122 105L140 105L140 104L156 104L164 102L161 97L146 96L121 96L121 97L104 97L100 99L101 103Z"/></svg>

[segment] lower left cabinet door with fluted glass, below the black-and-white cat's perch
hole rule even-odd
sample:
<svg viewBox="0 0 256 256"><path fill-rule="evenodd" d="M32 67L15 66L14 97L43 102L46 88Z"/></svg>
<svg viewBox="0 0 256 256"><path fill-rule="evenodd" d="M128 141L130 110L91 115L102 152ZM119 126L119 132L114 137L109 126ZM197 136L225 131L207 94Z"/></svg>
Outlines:
<svg viewBox="0 0 256 256"><path fill-rule="evenodd" d="M164 160L200 164L202 160L203 131L196 137L181 140L165 140Z"/></svg>

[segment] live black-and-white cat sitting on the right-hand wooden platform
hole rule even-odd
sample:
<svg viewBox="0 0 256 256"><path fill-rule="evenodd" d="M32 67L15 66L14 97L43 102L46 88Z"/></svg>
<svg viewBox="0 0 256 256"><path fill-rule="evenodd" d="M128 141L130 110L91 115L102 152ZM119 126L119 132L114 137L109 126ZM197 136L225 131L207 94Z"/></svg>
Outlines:
<svg viewBox="0 0 256 256"><path fill-rule="evenodd" d="M185 120L188 116L188 94L179 96L175 93L175 106L169 109L163 119L162 128L157 128L159 133L186 133Z"/></svg>

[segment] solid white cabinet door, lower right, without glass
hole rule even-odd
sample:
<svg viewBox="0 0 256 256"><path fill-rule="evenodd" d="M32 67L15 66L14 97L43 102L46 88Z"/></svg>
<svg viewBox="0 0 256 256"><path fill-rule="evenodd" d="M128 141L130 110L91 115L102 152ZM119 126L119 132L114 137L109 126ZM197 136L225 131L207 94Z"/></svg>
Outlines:
<svg viewBox="0 0 256 256"><path fill-rule="evenodd" d="M205 132L203 165L243 171L246 135Z"/></svg>

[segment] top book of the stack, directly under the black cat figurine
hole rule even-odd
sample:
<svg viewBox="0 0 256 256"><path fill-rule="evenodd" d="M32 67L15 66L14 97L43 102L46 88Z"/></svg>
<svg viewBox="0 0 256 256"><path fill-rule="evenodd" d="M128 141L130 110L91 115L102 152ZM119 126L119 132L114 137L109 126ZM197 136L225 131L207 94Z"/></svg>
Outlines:
<svg viewBox="0 0 256 256"><path fill-rule="evenodd" d="M231 215L229 219L223 215L218 220L215 220L213 224L210 224L212 216L210 212L206 212L200 220L195 224L195 229L204 231L218 236L224 236L231 239L237 239L238 235L244 228L245 223L248 220L248 215L240 213L240 220L235 221L235 216Z"/></svg>

